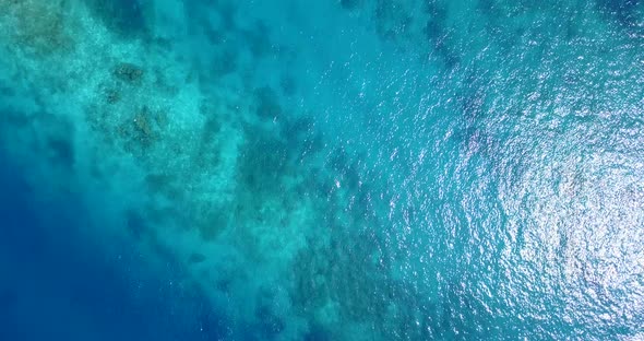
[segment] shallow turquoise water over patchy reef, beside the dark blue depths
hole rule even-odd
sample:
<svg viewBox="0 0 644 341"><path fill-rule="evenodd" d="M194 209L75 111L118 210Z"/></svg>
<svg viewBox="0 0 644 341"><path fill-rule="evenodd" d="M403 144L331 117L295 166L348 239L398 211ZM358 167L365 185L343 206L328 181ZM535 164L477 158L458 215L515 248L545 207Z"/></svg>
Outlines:
<svg viewBox="0 0 644 341"><path fill-rule="evenodd" d="M537 269L514 264L538 254L529 240L547 239L529 214L570 205L589 219L573 197L606 189L588 187L599 172L571 169L558 153L570 149L557 142L571 126L611 126L609 117L576 120L615 109L608 95L584 99L589 73L605 78L597 93L622 96L632 111L641 104L609 75L572 68L580 50L611 54L599 69L613 73L642 57L625 48L642 5L608 2L553 11L498 0L343 0L313 10L291 1L0 0L0 142L33 181L53 177L59 185L44 187L51 192L81 192L87 205L105 198L87 234L128 240L151 268L180 269L177 285L210 299L198 318L216 311L226 324L211 326L213 338L521 339L570 320L551 336L607 336L548 296L584 293L548 279L534 280L534 291L552 291L534 293L515 279ZM569 15L583 20L559 22ZM608 51L595 26L622 48ZM629 84L641 82L639 71L627 72ZM558 186L530 168L539 157L557 166L548 178ZM619 192L641 208L639 170L629 172ZM537 199L548 204L517 209ZM501 237L486 237L481 224ZM567 240L582 232L552 225L562 226L560 246L548 257L570 267L547 270L604 285L601 273L570 260L580 246ZM499 275L477 277L485 271ZM629 298L601 287L618 305ZM538 311L517 319L530 299ZM639 328L636 308L612 316L623 334Z"/></svg>

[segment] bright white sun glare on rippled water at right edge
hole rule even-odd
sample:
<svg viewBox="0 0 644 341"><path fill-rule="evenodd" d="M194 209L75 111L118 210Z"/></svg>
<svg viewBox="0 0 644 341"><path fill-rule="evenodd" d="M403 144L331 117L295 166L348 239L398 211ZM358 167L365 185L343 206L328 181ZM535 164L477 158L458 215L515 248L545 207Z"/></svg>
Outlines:
<svg viewBox="0 0 644 341"><path fill-rule="evenodd" d="M520 172L509 174L500 196L516 227L503 263L513 278L529 279L544 302L564 298L564 314L577 322L628 321L644 308L642 165L636 155L569 136L538 140L513 165Z"/></svg>

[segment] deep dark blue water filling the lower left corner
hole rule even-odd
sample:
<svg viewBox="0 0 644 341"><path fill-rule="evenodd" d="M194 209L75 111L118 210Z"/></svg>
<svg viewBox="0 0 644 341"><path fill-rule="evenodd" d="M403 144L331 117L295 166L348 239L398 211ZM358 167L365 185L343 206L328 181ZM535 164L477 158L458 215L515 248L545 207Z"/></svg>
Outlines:
<svg viewBox="0 0 644 341"><path fill-rule="evenodd" d="M86 227L77 199L43 205L22 170L5 157L2 165L1 340L217 339L216 317L195 297L182 297L187 306L172 310L179 293L164 289L164 277L126 277L123 270L139 268L134 255L115 261L84 245L73 233ZM129 281L140 289L133 292ZM186 309L214 330L191 332Z"/></svg>

